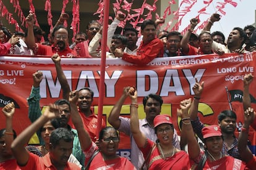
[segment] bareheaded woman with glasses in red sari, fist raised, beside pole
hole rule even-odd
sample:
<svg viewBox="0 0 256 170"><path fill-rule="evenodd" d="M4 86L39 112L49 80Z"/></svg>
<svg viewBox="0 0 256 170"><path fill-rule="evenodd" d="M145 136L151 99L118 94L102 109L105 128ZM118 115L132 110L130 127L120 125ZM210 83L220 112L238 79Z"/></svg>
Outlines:
<svg viewBox="0 0 256 170"><path fill-rule="evenodd" d="M80 145L85 153L85 165L87 165L85 169L135 169L127 158L116 155L119 136L114 127L108 126L101 129L98 144L96 145L92 142L88 132L83 127L82 119L77 110L76 103L78 98L78 91L70 92L71 118L77 129ZM99 152L96 152L97 150ZM94 154L95 152L96 154Z"/></svg>

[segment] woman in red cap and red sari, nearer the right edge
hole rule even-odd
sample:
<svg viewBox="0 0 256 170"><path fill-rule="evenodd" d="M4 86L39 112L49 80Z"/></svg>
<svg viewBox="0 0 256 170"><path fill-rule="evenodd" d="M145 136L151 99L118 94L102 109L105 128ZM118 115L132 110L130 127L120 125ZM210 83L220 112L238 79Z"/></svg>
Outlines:
<svg viewBox="0 0 256 170"><path fill-rule="evenodd" d="M203 127L202 135L205 153L201 153L198 169L245 169L244 162L221 153L223 136L218 125Z"/></svg>

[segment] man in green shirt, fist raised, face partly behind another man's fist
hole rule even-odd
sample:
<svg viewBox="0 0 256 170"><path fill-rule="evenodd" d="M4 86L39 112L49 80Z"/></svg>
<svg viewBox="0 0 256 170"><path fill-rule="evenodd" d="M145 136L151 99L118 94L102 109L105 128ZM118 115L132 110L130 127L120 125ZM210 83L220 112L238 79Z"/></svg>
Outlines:
<svg viewBox="0 0 256 170"><path fill-rule="evenodd" d="M41 109L40 109L40 83L43 79L43 73L41 71L36 71L33 73L33 86L28 97L28 118L33 123L41 116ZM59 107L59 114L56 116L58 120L59 127L64 127L72 132L74 136L73 140L73 149L72 154L77 158L77 160L84 166L85 156L80 147L79 137L77 134L77 130L72 129L69 126L69 119L70 119L70 104L65 99L59 99L54 102L54 104L58 105ZM36 132L38 134L38 138L40 140L40 145L43 145L43 139L41 139L40 132Z"/></svg>

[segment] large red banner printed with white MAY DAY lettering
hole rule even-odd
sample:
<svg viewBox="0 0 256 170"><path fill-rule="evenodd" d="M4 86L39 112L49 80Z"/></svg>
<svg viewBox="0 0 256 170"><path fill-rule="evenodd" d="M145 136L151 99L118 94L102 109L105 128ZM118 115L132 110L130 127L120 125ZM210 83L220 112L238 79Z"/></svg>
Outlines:
<svg viewBox="0 0 256 170"><path fill-rule="evenodd" d="M205 81L202 99L198 107L198 116L205 124L217 124L218 114L222 110L237 113L237 129L243 123L242 90L243 76L252 73L255 76L255 55L195 55L166 57L153 60L145 66L132 65L122 59L107 59L105 71L105 97L103 118L107 117L113 105L122 95L125 86L135 86L139 96L139 117L145 118L142 99L145 95L156 93L164 100L161 113L173 118L174 127L179 131L176 109L179 102L192 98L192 87L195 78ZM98 111L100 59L67 59L61 60L62 69L72 90L90 87L94 92L93 110ZM50 57L20 57L17 55L0 57L0 106L15 102L14 129L18 134L30 124L28 119L27 97L33 84L32 74L43 71L40 84L41 107L53 103L62 97L61 85L56 77L54 63ZM256 91L250 85L252 107L255 107ZM230 102L229 102L230 101ZM121 110L122 116L129 116L130 99L127 99ZM0 128L5 127L4 115L0 114ZM109 126L109 124L107 123ZM253 149L256 145L254 132L250 132ZM121 135L119 144L122 156L129 156L129 139ZM255 153L255 152L254 152Z"/></svg>

